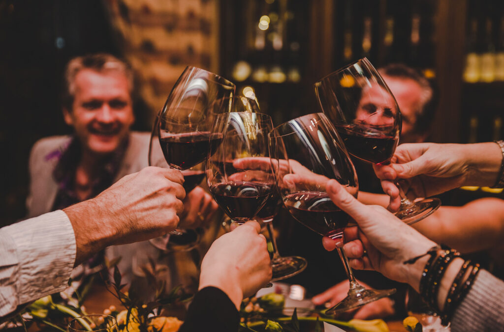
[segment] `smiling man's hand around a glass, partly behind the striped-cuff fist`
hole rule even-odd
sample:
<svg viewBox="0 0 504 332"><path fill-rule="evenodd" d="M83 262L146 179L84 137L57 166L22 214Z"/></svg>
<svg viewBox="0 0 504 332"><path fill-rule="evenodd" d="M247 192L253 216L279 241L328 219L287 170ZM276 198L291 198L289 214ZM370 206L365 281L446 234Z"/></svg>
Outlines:
<svg viewBox="0 0 504 332"><path fill-rule="evenodd" d="M217 211L218 205L205 190L196 187L183 200L184 210L180 218L180 228L196 228L208 224Z"/></svg>

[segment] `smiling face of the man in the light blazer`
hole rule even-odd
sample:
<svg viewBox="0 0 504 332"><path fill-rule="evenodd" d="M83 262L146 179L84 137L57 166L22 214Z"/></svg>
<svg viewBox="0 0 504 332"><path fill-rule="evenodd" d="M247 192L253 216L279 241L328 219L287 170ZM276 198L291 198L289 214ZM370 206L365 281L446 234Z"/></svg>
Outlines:
<svg viewBox="0 0 504 332"><path fill-rule="evenodd" d="M79 71L72 110L65 109L64 115L84 149L113 152L135 121L127 77L118 72Z"/></svg>

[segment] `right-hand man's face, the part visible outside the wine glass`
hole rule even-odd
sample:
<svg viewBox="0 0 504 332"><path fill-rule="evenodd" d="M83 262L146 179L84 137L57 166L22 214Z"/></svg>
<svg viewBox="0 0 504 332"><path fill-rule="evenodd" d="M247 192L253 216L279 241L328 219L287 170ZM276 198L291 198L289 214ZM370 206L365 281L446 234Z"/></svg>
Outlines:
<svg viewBox="0 0 504 332"><path fill-rule="evenodd" d="M401 110L401 117L403 119L401 142L421 142L421 137L413 133L413 127L420 115L420 109L422 107L422 88L417 82L409 78L397 78L383 75L383 79L387 82L390 91L394 94L399 109Z"/></svg>

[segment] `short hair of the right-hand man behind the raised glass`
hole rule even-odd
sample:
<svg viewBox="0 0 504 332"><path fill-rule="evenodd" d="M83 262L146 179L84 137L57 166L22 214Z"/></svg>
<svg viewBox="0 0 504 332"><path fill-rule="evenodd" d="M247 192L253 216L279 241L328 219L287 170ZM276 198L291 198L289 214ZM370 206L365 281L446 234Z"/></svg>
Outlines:
<svg viewBox="0 0 504 332"><path fill-rule="evenodd" d="M402 63L391 63L378 71L383 75L394 78L411 79L420 86L422 90L421 106L416 122L413 125L413 131L418 134L430 131L437 106L437 94L429 80L417 70Z"/></svg>

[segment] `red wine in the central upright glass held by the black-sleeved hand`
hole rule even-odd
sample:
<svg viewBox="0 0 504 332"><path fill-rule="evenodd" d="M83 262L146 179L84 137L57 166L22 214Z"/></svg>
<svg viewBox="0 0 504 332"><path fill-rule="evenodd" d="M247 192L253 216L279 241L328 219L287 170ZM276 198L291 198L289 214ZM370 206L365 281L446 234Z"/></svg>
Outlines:
<svg viewBox="0 0 504 332"><path fill-rule="evenodd" d="M222 182L210 187L219 206L236 222L254 218L266 204L273 187L258 182Z"/></svg>

